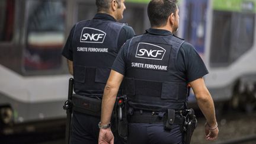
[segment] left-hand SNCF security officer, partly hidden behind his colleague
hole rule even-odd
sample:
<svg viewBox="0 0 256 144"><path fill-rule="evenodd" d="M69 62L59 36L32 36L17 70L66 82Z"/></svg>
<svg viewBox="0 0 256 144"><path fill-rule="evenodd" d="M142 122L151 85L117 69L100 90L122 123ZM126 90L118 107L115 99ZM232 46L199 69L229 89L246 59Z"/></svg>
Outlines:
<svg viewBox="0 0 256 144"><path fill-rule="evenodd" d="M100 99L120 47L135 36L132 27L116 22L123 18L124 1L96 0L95 17L73 26L62 55L68 59L76 94ZM73 111L71 143L98 143L99 121L100 117Z"/></svg>

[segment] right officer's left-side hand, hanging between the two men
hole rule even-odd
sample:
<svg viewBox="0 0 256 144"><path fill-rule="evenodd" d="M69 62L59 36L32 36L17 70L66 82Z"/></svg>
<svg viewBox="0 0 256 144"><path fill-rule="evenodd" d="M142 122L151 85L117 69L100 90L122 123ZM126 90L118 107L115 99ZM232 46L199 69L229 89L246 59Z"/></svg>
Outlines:
<svg viewBox="0 0 256 144"><path fill-rule="evenodd" d="M111 129L100 129L100 134L98 138L99 144L114 144L114 135L111 132Z"/></svg>

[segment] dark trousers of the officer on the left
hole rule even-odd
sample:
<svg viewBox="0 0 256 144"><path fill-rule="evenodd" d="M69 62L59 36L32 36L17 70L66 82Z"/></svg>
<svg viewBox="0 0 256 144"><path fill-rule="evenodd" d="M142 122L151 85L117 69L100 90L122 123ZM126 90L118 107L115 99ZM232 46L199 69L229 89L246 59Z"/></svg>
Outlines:
<svg viewBox="0 0 256 144"><path fill-rule="evenodd" d="M71 144L97 144L100 132L100 129L98 128L99 122L100 117L73 111ZM112 132L114 135L114 143L125 143L124 139L118 136L117 130L112 129Z"/></svg>

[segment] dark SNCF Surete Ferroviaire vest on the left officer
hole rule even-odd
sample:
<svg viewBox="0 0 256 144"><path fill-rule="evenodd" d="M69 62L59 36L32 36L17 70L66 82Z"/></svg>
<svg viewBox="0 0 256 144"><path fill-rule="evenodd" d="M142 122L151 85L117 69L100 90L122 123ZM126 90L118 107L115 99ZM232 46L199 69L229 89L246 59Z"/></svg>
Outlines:
<svg viewBox="0 0 256 144"><path fill-rule="evenodd" d="M80 95L103 95L116 59L117 41L124 24L92 19L75 25L73 33L74 90Z"/></svg>

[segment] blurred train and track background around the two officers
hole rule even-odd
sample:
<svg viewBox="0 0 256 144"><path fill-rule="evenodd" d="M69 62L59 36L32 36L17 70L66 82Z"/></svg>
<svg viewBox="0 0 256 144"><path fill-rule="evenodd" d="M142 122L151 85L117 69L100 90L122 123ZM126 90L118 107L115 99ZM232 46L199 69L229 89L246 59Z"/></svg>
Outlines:
<svg viewBox="0 0 256 144"><path fill-rule="evenodd" d="M121 23L150 27L149 0L126 0ZM205 119L193 92L198 126L191 143L256 143L256 0L180 0L177 36L193 44L209 74L219 139L204 140ZM62 47L73 24L94 17L94 0L0 0L0 143L65 143L62 109L68 73Z"/></svg>

